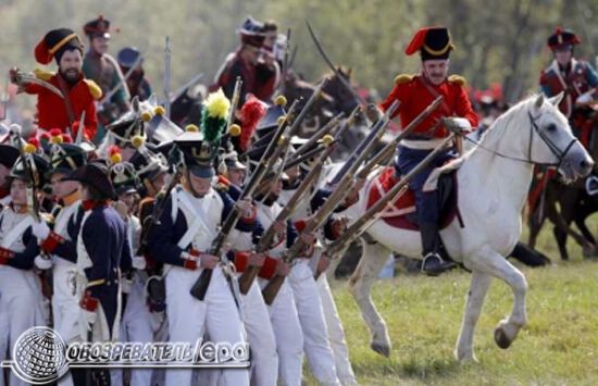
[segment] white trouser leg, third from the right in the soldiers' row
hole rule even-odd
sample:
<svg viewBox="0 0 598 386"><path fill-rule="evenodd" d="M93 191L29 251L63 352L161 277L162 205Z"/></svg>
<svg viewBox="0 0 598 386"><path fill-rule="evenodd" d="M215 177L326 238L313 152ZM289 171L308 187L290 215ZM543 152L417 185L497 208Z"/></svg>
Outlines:
<svg viewBox="0 0 598 386"><path fill-rule="evenodd" d="M259 282L262 289L267 284L267 281L262 278ZM278 381L286 386L299 386L303 365L303 334L288 277L267 311L276 337Z"/></svg>

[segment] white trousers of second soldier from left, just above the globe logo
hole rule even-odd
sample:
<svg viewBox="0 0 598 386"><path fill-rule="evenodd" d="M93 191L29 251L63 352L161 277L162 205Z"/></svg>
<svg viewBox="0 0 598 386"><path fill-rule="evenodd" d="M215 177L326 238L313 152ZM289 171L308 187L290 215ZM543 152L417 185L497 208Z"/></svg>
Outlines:
<svg viewBox="0 0 598 386"><path fill-rule="evenodd" d="M78 319L80 309L75 288L77 265L58 257L54 257L53 261L52 315L54 317L54 331L68 345L79 338ZM66 373L58 383L59 386L73 385L71 373Z"/></svg>

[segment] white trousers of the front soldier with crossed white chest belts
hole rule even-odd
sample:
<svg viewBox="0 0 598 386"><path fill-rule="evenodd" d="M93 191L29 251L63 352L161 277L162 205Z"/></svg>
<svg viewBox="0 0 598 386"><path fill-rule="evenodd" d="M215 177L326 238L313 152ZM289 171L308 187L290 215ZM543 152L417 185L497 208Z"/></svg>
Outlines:
<svg viewBox="0 0 598 386"><path fill-rule="evenodd" d="M170 341L188 343L195 347L204 333L213 343L236 345L246 341L240 315L222 270L214 269L203 301L189 292L200 274L201 270L188 271L174 266L166 275ZM166 386L190 386L191 375L191 369L169 369ZM223 370L219 378L224 385L249 385L249 371Z"/></svg>

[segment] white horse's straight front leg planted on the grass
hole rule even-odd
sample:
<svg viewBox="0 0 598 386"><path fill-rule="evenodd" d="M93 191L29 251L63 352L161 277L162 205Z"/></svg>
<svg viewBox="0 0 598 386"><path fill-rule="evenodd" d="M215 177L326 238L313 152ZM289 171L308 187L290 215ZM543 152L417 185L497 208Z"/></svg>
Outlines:
<svg viewBox="0 0 598 386"><path fill-rule="evenodd" d="M473 353L473 335L491 281L493 276L486 273L476 270L472 272L463 323L461 324L461 332L459 333L454 349L454 357L461 362L472 360L477 362Z"/></svg>

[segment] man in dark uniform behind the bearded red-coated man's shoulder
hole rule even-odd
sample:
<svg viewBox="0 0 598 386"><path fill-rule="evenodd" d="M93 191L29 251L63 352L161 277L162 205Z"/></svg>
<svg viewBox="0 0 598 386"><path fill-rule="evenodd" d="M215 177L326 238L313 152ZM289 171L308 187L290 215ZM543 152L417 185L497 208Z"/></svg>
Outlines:
<svg viewBox="0 0 598 386"><path fill-rule="evenodd" d="M110 21L100 15L88 22L83 29L89 38L89 51L84 58L83 72L85 76L100 85L104 95L104 99L98 107L101 125L94 139L99 144L105 134L103 126L130 110L130 95L119 63L107 53L110 42ZM111 92L113 94L110 100L105 100Z"/></svg>

